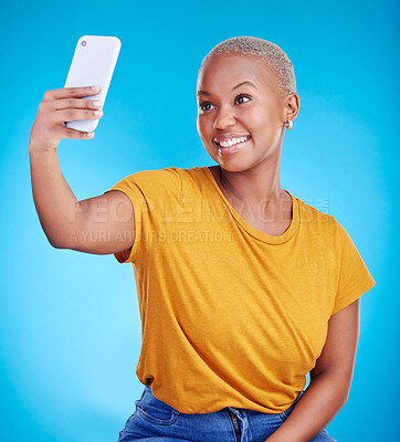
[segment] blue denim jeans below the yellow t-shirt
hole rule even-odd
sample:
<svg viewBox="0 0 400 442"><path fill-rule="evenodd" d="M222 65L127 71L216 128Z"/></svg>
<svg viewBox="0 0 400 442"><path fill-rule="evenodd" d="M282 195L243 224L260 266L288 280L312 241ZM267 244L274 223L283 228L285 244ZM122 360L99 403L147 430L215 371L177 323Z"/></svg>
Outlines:
<svg viewBox="0 0 400 442"><path fill-rule="evenodd" d="M296 402L278 414L225 407L212 413L187 414L157 399L146 386L118 442L265 442L288 418ZM336 442L323 430L310 442Z"/></svg>

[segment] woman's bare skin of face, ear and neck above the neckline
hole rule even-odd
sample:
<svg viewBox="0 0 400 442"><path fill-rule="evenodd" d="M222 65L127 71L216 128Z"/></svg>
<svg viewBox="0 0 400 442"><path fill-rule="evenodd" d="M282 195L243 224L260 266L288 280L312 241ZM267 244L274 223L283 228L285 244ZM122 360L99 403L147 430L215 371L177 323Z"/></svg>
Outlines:
<svg viewBox="0 0 400 442"><path fill-rule="evenodd" d="M250 81L232 91L238 84ZM198 131L208 154L220 166L210 168L221 191L255 229L281 235L292 220L292 198L280 182L285 122L296 119L299 97L285 96L273 71L252 55L224 54L199 72ZM242 150L220 155L213 138L249 134ZM245 203L243 203L245 202Z"/></svg>

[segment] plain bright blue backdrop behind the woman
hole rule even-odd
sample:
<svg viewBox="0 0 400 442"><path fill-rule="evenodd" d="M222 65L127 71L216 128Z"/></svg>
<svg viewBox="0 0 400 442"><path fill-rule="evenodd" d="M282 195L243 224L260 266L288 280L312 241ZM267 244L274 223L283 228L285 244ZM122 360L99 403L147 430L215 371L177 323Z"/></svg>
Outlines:
<svg viewBox="0 0 400 442"><path fill-rule="evenodd" d="M252 35L294 63L301 110L281 183L336 217L377 285L361 298L339 442L398 436L399 6L396 1L11 2L1 10L0 439L116 441L135 411L140 322L131 265L53 249L34 209L29 136L64 86L81 35L116 35L119 59L92 140L62 139L78 200L123 177L211 166L196 128L196 82L219 42Z"/></svg>

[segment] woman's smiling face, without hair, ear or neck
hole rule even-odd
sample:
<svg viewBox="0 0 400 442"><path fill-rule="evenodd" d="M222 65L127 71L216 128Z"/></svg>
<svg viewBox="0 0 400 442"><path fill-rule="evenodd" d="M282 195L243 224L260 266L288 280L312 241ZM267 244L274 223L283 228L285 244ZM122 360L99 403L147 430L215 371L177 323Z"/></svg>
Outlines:
<svg viewBox="0 0 400 442"><path fill-rule="evenodd" d="M270 67L252 55L219 55L200 70L197 128L223 169L248 170L280 155L287 108L277 85ZM236 147L215 143L241 137L249 140Z"/></svg>

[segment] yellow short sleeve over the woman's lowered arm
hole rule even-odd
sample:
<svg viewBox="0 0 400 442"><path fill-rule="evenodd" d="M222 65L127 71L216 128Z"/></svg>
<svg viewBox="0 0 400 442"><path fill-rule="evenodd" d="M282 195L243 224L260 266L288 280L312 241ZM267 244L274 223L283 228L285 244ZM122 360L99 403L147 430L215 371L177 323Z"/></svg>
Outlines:
<svg viewBox="0 0 400 442"><path fill-rule="evenodd" d="M376 284L350 235L338 225L339 278L331 315L347 307Z"/></svg>

